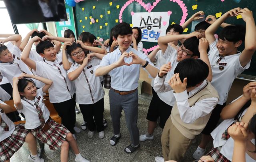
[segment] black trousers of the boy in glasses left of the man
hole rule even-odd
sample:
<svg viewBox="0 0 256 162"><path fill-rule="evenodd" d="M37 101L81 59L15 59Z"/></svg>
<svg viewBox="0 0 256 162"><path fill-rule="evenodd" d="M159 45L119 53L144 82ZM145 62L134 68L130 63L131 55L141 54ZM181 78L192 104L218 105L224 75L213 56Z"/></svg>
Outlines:
<svg viewBox="0 0 256 162"><path fill-rule="evenodd" d="M103 111L104 111L104 98L100 99L94 104L79 104L80 110L88 123L90 131L98 132L104 130L103 126Z"/></svg>

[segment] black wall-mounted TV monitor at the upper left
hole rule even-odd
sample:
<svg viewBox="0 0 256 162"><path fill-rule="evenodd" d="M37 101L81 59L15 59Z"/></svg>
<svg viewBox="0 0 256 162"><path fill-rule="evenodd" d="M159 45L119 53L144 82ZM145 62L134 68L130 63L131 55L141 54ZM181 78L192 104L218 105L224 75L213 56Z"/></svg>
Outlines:
<svg viewBox="0 0 256 162"><path fill-rule="evenodd" d="M12 24L67 21L64 0L4 0Z"/></svg>

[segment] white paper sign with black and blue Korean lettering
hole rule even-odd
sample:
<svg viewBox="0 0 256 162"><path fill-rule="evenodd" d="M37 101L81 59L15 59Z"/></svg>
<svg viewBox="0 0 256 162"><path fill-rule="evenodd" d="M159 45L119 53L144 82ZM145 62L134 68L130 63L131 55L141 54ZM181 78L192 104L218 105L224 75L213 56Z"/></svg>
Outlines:
<svg viewBox="0 0 256 162"><path fill-rule="evenodd" d="M141 29L141 41L157 42L160 36L165 36L169 19L168 12L134 12L132 24Z"/></svg>

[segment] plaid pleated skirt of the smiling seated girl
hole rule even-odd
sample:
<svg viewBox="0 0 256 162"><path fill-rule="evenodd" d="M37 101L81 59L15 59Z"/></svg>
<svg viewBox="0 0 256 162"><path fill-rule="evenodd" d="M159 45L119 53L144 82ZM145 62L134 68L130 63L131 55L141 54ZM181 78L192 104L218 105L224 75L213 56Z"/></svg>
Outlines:
<svg viewBox="0 0 256 162"><path fill-rule="evenodd" d="M42 143L48 144L51 150L56 150L66 140L69 130L62 124L54 122L51 118L47 120L46 124L49 124L49 130L45 131L39 126L32 129L31 132Z"/></svg>

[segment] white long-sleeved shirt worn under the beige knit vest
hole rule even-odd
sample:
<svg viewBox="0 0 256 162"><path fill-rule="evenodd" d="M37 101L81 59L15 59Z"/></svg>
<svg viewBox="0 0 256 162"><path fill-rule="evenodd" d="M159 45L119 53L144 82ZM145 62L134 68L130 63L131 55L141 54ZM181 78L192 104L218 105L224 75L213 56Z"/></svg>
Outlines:
<svg viewBox="0 0 256 162"><path fill-rule="evenodd" d="M204 82L200 86L196 87L190 92L187 92L187 90L185 90L180 93L174 93L174 97L177 101L177 107L180 112L180 118L183 122L193 123L196 119L210 114L210 112L212 112L215 105L217 104L218 98L211 97L196 102L194 106L189 106L188 98L193 94L197 93L198 90L206 85L206 83L207 80L204 80Z"/></svg>

